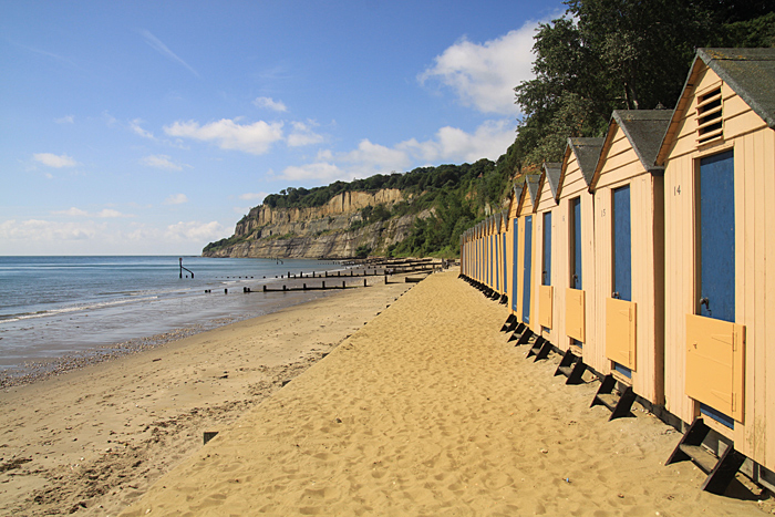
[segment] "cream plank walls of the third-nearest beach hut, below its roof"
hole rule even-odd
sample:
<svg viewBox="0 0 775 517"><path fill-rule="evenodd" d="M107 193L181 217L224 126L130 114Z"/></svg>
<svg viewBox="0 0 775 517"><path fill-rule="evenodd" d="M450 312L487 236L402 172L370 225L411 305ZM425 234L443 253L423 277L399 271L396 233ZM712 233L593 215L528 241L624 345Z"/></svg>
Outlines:
<svg viewBox="0 0 775 517"><path fill-rule="evenodd" d="M583 362L600 373L608 373L610 364L606 359L604 347L596 339L596 303L595 303L595 197L589 192L578 156L568 147L562 162L562 177L559 187L559 214L562 224L559 225L557 236L557 255L559 265L557 268L557 289L565 294L558 298L559 321L557 332L559 334L557 347L560 350L574 348L574 352L583 358ZM574 281L572 267L575 255L571 254L571 231L575 231L575 204L579 204L580 211L580 238L581 275L577 275ZM575 242L574 242L575 244ZM580 289L578 288L580 283ZM567 290L575 291L568 293ZM580 306L581 318L578 324L571 329L567 320L568 303ZM571 319L578 319L575 308L570 310ZM571 344L572 343L575 344Z"/></svg>

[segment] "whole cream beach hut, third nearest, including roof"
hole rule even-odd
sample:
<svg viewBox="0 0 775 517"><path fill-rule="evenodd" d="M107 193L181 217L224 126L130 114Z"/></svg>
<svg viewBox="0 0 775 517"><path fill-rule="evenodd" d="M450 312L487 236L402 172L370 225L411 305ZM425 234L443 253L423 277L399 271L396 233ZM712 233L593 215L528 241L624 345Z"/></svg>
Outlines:
<svg viewBox="0 0 775 517"><path fill-rule="evenodd" d="M558 189L557 322L560 350L574 349L598 372L610 370L606 349L596 340L595 324L595 197L589 185L603 138L568 138ZM562 293L562 296L559 296Z"/></svg>

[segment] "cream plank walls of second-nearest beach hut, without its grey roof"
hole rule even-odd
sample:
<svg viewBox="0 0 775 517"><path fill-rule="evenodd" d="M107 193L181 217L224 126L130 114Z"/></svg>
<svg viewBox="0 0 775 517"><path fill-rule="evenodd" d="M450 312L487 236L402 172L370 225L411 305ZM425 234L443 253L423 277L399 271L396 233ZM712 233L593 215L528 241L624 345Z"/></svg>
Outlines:
<svg viewBox="0 0 775 517"><path fill-rule="evenodd" d="M660 199L663 196L663 178L644 169L622 128L611 123L607 144L598 163L595 193L596 337L611 360L609 369L620 381L631 384L634 392L654 404L663 402L663 331L659 322L663 311L663 293L657 292L662 279L655 256L661 252L663 225ZM629 187L629 194L626 188ZM622 196L629 214L614 214L613 196ZM629 217L630 246L620 254L630 266L630 294L614 296L614 225L616 217ZM621 219L620 219L621 220ZM620 228L622 228L620 226ZM622 231L624 235L624 231ZM620 241L621 242L621 241ZM628 257L629 251L629 257ZM626 267L621 267L624 270ZM621 297L621 299L616 299ZM629 298L629 302L627 299ZM627 323L629 311L629 324ZM619 318L616 314L620 314ZM623 316L622 316L623 314ZM623 320L621 319L623 318ZM628 334L622 339L617 337ZM629 347L628 347L629 341ZM614 349L616 347L616 349ZM629 350L628 350L629 349ZM616 352L614 352L616 350ZM624 366L622 369L621 366ZM614 368L616 366L616 368ZM629 370L629 376L627 372Z"/></svg>

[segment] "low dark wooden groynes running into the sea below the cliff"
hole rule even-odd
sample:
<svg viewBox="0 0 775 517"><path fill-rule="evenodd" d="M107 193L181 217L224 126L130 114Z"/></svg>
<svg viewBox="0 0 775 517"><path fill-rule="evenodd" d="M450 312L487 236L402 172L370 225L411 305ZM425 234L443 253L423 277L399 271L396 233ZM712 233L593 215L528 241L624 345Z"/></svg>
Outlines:
<svg viewBox="0 0 775 517"><path fill-rule="evenodd" d="M317 271L311 271L309 273L304 273L303 271L299 271L299 275L293 275L290 271L288 271L287 277L283 275L280 275L280 278L287 278L289 280L296 280L296 279L304 279L304 278L320 278L321 283L320 286L308 286L306 282L301 285L301 287L298 286L282 286L282 288L273 288L269 286L264 286L261 291L258 292L289 292L289 291L321 291L321 290L329 290L329 289L349 289L349 288L356 288L356 287L369 287L368 279L365 277L384 277L384 282L390 283L389 277L393 275L401 275L401 273L410 273L410 272L424 272L424 273L431 273L434 270L441 270L441 269L446 269L448 267L448 262L446 260L442 261L433 261L433 259L417 259L417 260L395 260L395 261L384 261L384 260L363 260L363 261L348 261L348 262L342 262L342 265L350 266L350 267L358 267L358 266L366 266L366 265L373 265L374 269L369 269L365 268L362 271L354 271L350 270L348 271L323 271L317 272ZM378 266L382 266L381 270ZM352 278L358 278L358 277L363 277L363 286L359 285L347 285L347 280L342 281L342 285L339 286L338 282L329 282L329 285L326 285L326 278L335 278L335 279L352 279ZM241 277L238 277L241 278ZM248 277L245 277L246 279ZM252 278L252 277L250 277ZM406 278L405 281L417 281L416 279L410 279ZM206 289L206 293L211 292L211 289ZM224 293L228 294L229 290L228 288L224 289ZM248 293L248 292L254 292L249 287L242 287L242 292Z"/></svg>

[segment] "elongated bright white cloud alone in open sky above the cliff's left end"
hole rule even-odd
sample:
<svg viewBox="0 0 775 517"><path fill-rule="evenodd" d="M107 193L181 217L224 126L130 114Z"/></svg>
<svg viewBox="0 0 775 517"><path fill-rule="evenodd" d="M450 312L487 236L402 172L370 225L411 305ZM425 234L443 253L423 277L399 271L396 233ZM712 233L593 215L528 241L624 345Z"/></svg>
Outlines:
<svg viewBox="0 0 775 517"><path fill-rule="evenodd" d="M271 124L258 121L254 124L238 124L236 120L223 118L203 126L194 121L175 122L165 126L169 136L214 142L221 149L238 149L251 154L264 154L275 142L282 138L282 123Z"/></svg>

